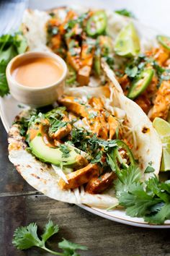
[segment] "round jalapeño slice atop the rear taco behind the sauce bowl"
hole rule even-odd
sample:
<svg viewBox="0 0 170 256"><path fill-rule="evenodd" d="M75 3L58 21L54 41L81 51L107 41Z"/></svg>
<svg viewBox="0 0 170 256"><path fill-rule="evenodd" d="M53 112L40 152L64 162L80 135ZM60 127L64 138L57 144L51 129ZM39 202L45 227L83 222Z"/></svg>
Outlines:
<svg viewBox="0 0 170 256"><path fill-rule="evenodd" d="M107 27L107 15L104 11L97 11L89 18L86 23L87 35L94 37L102 35Z"/></svg>

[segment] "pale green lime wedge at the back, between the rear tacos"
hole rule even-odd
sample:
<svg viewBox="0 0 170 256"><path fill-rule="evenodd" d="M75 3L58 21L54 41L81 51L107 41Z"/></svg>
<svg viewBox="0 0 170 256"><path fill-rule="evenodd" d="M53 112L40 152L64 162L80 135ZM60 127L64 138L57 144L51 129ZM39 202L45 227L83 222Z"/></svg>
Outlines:
<svg viewBox="0 0 170 256"><path fill-rule="evenodd" d="M126 57L135 56L140 52L140 40L133 22L120 30L115 40L115 52Z"/></svg>

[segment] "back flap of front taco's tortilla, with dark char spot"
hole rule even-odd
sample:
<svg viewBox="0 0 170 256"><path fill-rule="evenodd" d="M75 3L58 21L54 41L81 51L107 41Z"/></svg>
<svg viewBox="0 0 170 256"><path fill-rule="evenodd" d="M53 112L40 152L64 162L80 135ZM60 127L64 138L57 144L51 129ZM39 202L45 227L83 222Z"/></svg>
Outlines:
<svg viewBox="0 0 170 256"><path fill-rule="evenodd" d="M77 97L84 97L85 95L97 97L102 97L105 95L108 97L110 96L110 93L111 97L109 100L109 105L107 105L106 108L109 111L112 111L112 114L115 114L115 116L120 119L122 115L120 109L125 112L136 140L136 147L133 149L133 154L139 161L139 166L143 171L143 179L148 179L153 174L158 176L162 155L161 140L153 128L153 124L140 106L138 106L138 104L136 104L134 101L131 101L129 98L125 97L121 91L119 92L119 90L117 90L117 88L114 86L114 82L109 86L109 88L89 88L84 86L80 88L70 88L67 89L66 92L68 95ZM155 171L154 173L144 174L144 171L150 162L152 163L152 167L155 169Z"/></svg>

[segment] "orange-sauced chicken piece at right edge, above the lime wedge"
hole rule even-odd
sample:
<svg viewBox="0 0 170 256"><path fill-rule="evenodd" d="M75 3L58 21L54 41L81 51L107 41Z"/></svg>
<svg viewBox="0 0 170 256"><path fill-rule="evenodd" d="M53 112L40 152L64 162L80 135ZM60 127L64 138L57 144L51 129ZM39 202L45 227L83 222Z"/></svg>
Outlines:
<svg viewBox="0 0 170 256"><path fill-rule="evenodd" d="M161 117L162 119L167 119L170 108L170 81L164 81L161 83L160 88L156 95L153 109L149 115L151 121L155 117Z"/></svg>

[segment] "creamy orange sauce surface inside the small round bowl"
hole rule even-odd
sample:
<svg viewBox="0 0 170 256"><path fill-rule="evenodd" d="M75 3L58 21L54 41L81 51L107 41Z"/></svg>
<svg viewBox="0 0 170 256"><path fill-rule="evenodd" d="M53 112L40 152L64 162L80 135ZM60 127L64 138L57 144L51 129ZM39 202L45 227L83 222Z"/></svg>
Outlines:
<svg viewBox="0 0 170 256"><path fill-rule="evenodd" d="M48 57L36 57L21 62L13 68L12 77L19 84L30 88L53 85L60 80L63 67L58 61Z"/></svg>

